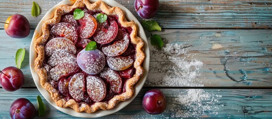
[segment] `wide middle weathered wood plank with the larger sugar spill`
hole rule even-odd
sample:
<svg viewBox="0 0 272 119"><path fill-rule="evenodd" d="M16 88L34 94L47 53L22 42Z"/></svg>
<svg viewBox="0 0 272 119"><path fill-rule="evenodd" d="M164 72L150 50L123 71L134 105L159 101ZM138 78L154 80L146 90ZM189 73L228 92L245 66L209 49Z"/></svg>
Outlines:
<svg viewBox="0 0 272 119"><path fill-rule="evenodd" d="M163 30L153 33L160 34L166 44L163 50L149 46L150 73L145 86L272 86L272 30ZM29 69L32 34L33 30L25 39L13 39L0 30L1 69L15 66L16 50L26 48L22 65L26 77L24 87L35 87ZM186 46L191 47L182 49Z"/></svg>

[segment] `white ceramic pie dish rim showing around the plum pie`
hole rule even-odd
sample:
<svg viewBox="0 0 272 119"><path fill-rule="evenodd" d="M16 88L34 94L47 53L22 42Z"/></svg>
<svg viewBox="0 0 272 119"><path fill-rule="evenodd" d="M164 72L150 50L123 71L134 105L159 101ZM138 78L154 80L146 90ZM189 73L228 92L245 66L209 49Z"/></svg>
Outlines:
<svg viewBox="0 0 272 119"><path fill-rule="evenodd" d="M89 1L91 1L91 3L93 3L93 2L95 2L97 0L89 0ZM137 20L137 18L127 8L125 8L123 5L119 4L118 2L116 2L114 0L102 0L102 1L106 2L109 6L120 7L125 12L127 20L128 21L133 20L138 25L138 36L140 36L145 42L145 46L144 46L145 60L144 60L144 62L142 64L142 66L144 68L144 74L141 77L141 79L134 86L134 95L129 100L118 103L118 105L114 109L107 110L107 111L100 110L100 111L97 111L96 113L88 114L88 113L85 113L85 112L84 113L77 113L71 108L60 108L60 107L56 106L55 102L51 98L50 93L41 86L40 78L38 76L38 73L34 69L34 60L37 58L37 53L36 53L35 48L34 48L34 40L35 40L36 36L39 36L38 34L40 34L40 35L42 34L42 24L43 24L43 22L54 17L54 11L58 6L63 5L63 4L72 5L74 3L74 2L72 2L72 0L62 0L62 1L60 1L58 4L56 4L53 8L51 8L46 13L46 15L42 18L42 20L39 22L39 24L36 27L36 30L34 32L34 35L33 35L32 41L31 41L31 45L30 45L30 55L29 55L30 56L30 69L31 69L31 74L33 76L34 82L35 82L38 90L43 95L43 97L54 108L56 108L57 110L59 110L59 111L61 111L63 113L71 115L71 116L81 117L81 118L98 118L98 117L103 117L103 116L106 116L106 115L110 115L112 113L115 113L115 112L123 109L130 102L132 102L133 99L140 92L140 90L142 89L142 87L143 87L143 85L144 85L144 83L146 81L147 75L148 75L150 52L149 52L147 38L146 38L144 29L141 26L140 22Z"/></svg>

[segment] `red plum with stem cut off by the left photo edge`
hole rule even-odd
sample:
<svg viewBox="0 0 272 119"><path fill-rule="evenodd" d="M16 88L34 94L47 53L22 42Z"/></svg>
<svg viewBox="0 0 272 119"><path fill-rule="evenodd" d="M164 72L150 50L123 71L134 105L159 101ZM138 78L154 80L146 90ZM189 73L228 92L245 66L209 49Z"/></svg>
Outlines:
<svg viewBox="0 0 272 119"><path fill-rule="evenodd" d="M20 89L24 84L24 80L23 72L14 66L6 67L2 70L2 73L0 73L0 83L2 88L6 91L11 92Z"/></svg>

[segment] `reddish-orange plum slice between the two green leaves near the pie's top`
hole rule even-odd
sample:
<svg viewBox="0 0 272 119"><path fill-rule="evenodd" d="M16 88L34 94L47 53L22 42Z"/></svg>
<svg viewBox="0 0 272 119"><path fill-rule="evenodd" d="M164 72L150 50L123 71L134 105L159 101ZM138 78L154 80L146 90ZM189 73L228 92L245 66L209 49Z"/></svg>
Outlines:
<svg viewBox="0 0 272 119"><path fill-rule="evenodd" d="M77 21L79 23L79 26L77 27L78 36L80 38L90 38L93 36L97 29L97 21L92 15L84 13L84 16Z"/></svg>

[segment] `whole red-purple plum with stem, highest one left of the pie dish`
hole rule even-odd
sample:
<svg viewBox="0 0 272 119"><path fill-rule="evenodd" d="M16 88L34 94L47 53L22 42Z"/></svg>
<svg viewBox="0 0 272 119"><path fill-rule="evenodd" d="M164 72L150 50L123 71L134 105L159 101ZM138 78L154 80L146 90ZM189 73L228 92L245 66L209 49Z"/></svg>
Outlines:
<svg viewBox="0 0 272 119"><path fill-rule="evenodd" d="M5 32L12 38L25 38L30 33L30 24L27 18L21 14L14 14L6 19Z"/></svg>

